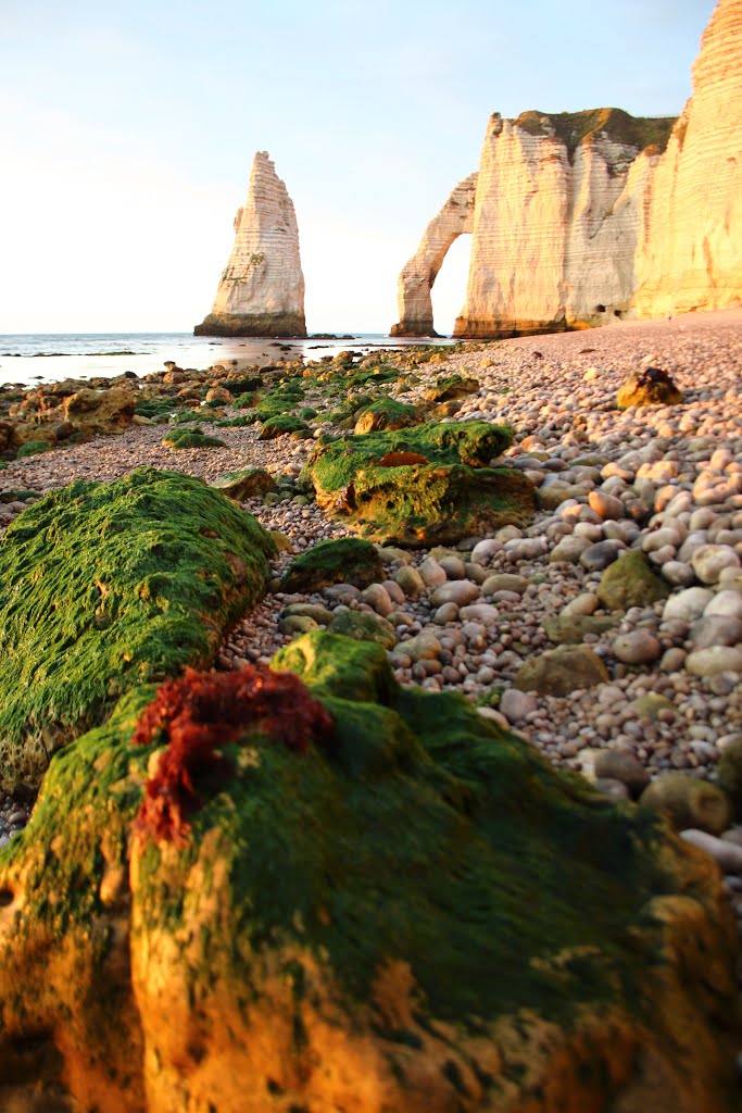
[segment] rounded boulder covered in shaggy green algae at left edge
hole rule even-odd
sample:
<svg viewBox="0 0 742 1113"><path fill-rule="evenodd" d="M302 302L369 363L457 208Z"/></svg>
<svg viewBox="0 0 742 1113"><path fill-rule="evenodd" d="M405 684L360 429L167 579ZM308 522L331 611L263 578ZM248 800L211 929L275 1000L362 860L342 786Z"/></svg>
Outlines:
<svg viewBox="0 0 742 1113"><path fill-rule="evenodd" d="M0 787L38 785L128 689L208 664L275 551L218 491L151 469L23 511L0 544Z"/></svg>

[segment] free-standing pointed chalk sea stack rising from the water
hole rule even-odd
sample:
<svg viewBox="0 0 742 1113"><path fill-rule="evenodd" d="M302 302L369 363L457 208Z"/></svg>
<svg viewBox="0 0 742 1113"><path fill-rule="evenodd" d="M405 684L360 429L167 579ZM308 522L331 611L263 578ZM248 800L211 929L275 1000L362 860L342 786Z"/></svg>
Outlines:
<svg viewBox="0 0 742 1113"><path fill-rule="evenodd" d="M294 204L267 151L257 151L235 244L197 336L306 336Z"/></svg>

